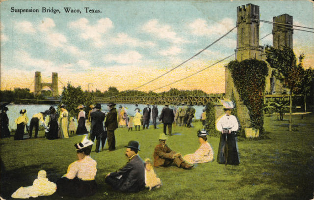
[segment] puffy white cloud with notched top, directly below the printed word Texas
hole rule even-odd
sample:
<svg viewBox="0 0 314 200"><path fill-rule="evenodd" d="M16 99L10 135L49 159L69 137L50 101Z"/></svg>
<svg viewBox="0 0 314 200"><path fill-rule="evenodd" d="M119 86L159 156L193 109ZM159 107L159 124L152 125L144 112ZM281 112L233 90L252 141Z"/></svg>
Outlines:
<svg viewBox="0 0 314 200"><path fill-rule="evenodd" d="M78 30L84 40L91 39L94 46L102 47L105 44L102 40L102 35L113 28L113 24L109 18L102 18L95 25L90 25L86 18L80 18L77 21L70 22L68 27Z"/></svg>

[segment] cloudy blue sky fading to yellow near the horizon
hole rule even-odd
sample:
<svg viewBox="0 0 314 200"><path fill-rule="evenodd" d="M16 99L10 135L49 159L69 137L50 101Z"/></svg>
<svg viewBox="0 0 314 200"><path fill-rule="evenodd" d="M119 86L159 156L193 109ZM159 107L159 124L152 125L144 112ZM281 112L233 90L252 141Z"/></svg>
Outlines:
<svg viewBox="0 0 314 200"><path fill-rule="evenodd" d="M313 3L309 0L269 1L20 1L0 4L1 22L1 89L28 87L35 71L51 82L58 72L66 84L106 90L117 86L131 89L146 83L180 64L235 27L236 7L253 3L260 6L260 19L289 14L293 24L314 27ZM10 12L15 9L39 9L39 13ZM42 13L42 7L60 13ZM64 7L81 13L65 13ZM85 13L84 7L101 13ZM261 23L260 37L271 32L272 25ZM306 68L314 62L313 33L295 30L293 47L306 56ZM260 45L272 44L272 35ZM204 53L140 90L188 76L219 59L234 53L236 29ZM234 59L234 58L232 58ZM224 92L226 60L204 72L164 87L203 89ZM61 88L62 84L59 84ZM33 89L33 86L30 87Z"/></svg>

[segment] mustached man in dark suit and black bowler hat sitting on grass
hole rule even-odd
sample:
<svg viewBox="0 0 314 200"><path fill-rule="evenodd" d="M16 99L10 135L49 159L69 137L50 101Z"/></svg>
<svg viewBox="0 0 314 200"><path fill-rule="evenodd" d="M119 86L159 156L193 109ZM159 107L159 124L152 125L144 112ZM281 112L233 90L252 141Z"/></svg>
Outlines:
<svg viewBox="0 0 314 200"><path fill-rule="evenodd" d="M145 189L145 167L143 160L137 152L139 144L130 141L127 146L126 156L128 163L116 172L108 173L105 182L111 185L113 190L120 192L139 192Z"/></svg>

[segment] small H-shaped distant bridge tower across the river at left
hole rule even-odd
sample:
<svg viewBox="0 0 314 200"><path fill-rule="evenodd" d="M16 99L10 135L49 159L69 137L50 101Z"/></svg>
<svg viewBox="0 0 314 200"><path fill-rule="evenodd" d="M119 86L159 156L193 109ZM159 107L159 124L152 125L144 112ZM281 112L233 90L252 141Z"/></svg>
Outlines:
<svg viewBox="0 0 314 200"><path fill-rule="evenodd" d="M35 94L41 94L43 87L48 86L52 90L52 96L58 95L58 73L52 72L52 83L42 83L40 72L35 72Z"/></svg>

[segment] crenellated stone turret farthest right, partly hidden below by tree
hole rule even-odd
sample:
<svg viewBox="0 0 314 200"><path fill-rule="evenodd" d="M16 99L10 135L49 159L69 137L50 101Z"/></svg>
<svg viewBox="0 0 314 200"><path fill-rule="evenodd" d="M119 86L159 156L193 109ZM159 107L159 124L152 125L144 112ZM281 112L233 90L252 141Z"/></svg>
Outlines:
<svg viewBox="0 0 314 200"><path fill-rule="evenodd" d="M283 47L293 49L292 16L288 14L279 15L273 17L273 22L273 47L275 49L283 49Z"/></svg>

